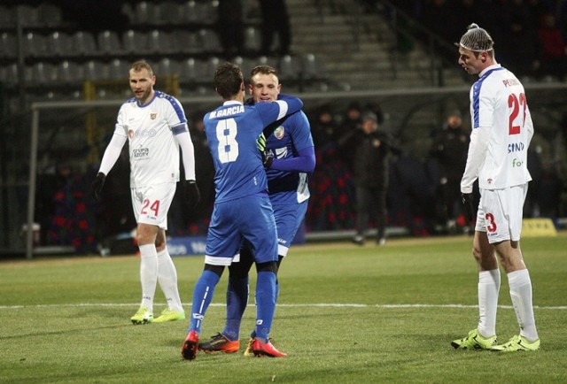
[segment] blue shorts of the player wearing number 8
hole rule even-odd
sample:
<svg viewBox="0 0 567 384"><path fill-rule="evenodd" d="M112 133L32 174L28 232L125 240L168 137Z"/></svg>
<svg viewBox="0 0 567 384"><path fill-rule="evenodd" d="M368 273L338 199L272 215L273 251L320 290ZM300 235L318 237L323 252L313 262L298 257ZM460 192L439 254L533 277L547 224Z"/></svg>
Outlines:
<svg viewBox="0 0 567 384"><path fill-rule="evenodd" d="M268 195L214 204L206 236L205 263L230 265L243 240L251 244L256 263L277 260L276 220Z"/></svg>

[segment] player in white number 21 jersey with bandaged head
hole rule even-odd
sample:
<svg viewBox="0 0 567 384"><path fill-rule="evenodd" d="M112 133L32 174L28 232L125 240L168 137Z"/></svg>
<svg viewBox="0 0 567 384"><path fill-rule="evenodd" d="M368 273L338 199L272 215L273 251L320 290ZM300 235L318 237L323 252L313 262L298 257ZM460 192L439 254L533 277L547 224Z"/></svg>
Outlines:
<svg viewBox="0 0 567 384"><path fill-rule="evenodd" d="M473 240L479 267L477 328L451 344L455 349L501 352L536 350L540 338L532 305L532 281L520 250L522 212L528 182L527 151L533 135L524 87L494 58L493 39L477 24L462 35L459 64L478 81L470 89L469 154L461 180L462 203L472 220L472 185L478 179L480 203ZM495 253L494 253L495 252ZM519 334L496 341L496 310L501 275L496 255L508 275Z"/></svg>

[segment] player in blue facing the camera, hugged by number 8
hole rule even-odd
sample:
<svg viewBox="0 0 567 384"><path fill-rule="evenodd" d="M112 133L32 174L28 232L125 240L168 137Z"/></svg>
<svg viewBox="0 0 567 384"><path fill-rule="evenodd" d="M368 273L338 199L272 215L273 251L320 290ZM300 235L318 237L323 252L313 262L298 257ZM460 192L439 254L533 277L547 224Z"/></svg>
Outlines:
<svg viewBox="0 0 567 384"><path fill-rule="evenodd" d="M248 90L254 103L273 102L281 91L276 69L258 65L252 69ZM303 111L294 113L278 124L274 134L266 141L265 150L274 160L266 171L268 194L274 208L277 229L277 267L287 255L307 211L309 199L308 173L315 170L315 148L311 128ZM240 261L229 266L227 288L227 320L222 333L199 343L198 348L206 352L237 352L240 347L240 323L248 303L248 272L253 257L249 243L240 250ZM276 298L279 284L276 280ZM253 356L251 338L245 356Z"/></svg>

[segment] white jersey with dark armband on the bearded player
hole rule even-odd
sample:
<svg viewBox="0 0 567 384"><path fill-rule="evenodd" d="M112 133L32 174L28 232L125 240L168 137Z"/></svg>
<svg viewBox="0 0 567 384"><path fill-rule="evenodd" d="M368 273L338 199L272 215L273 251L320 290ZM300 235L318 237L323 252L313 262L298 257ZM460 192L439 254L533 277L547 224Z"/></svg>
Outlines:
<svg viewBox="0 0 567 384"><path fill-rule="evenodd" d="M187 119L173 96L156 91L150 104L140 106L136 98L122 104L114 134L128 137L131 187L179 180L180 130L187 130Z"/></svg>

